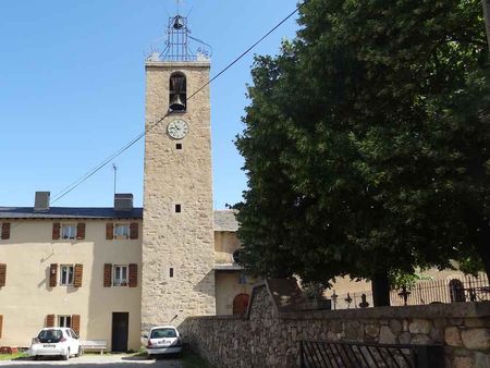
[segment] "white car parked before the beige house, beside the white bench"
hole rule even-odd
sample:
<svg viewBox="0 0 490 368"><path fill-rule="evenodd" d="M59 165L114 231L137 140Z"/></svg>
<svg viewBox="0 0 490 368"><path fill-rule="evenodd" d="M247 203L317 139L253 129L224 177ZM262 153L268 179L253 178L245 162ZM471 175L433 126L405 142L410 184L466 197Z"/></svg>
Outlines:
<svg viewBox="0 0 490 368"><path fill-rule="evenodd" d="M42 329L37 338L33 339L28 354L35 359L40 356L59 355L68 360L71 355L79 356L78 335L64 327Z"/></svg>

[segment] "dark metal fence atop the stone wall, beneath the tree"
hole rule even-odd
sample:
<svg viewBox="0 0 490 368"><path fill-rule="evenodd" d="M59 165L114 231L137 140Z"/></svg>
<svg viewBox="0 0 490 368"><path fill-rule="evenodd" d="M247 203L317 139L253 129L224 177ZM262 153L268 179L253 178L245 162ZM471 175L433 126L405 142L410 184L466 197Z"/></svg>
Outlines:
<svg viewBox="0 0 490 368"><path fill-rule="evenodd" d="M340 295L333 292L328 297L332 299L333 309L367 308L373 305L370 291ZM419 281L412 287L390 292L392 306L485 300L490 300L490 283L485 274Z"/></svg>

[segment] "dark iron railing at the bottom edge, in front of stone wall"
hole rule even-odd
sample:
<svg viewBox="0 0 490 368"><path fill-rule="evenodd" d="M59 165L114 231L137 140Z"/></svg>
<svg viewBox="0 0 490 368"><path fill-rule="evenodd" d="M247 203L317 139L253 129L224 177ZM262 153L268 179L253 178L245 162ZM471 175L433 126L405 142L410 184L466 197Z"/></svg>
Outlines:
<svg viewBox="0 0 490 368"><path fill-rule="evenodd" d="M301 341L301 368L443 368L442 345Z"/></svg>

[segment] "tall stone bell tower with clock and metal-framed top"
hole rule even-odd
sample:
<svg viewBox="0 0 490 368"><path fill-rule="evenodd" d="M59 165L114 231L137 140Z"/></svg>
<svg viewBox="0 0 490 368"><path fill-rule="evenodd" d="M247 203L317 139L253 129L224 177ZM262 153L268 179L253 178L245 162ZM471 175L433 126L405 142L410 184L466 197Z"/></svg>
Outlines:
<svg viewBox="0 0 490 368"><path fill-rule="evenodd" d="M164 51L145 64L146 331L216 312L209 86L201 88L210 62L191 54L187 35L186 19L170 17Z"/></svg>

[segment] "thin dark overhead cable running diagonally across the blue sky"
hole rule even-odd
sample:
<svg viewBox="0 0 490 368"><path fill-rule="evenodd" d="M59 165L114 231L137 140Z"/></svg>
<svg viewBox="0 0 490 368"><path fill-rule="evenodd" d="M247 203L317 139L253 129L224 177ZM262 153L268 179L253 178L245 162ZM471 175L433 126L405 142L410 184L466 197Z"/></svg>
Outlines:
<svg viewBox="0 0 490 368"><path fill-rule="evenodd" d="M206 82L203 86L197 88L191 96L187 97L187 100L192 99L194 96L196 96L199 91L201 91L204 88L206 88L209 84L211 84L215 79L217 79L220 75L222 75L224 72L226 72L231 66L233 66L236 62L238 62L243 57L245 57L248 52L250 52L258 44L260 44L264 39L266 39L271 33L273 33L275 29L278 29L284 22L286 22L290 17L292 17L294 14L296 14L299 9L302 9L306 3L308 3L309 0L305 0L303 3L297 5L294 11L292 11L286 17L284 17L281 22L279 22L277 25L274 25L268 33L266 33L262 37L260 37L254 45L248 47L244 52L242 52L237 58L235 58L231 63L229 63L225 68L223 68L217 75L215 75L212 78L210 78L208 82ZM114 158L122 155L124 151L130 149L132 146L134 146L139 139L142 139L146 133L151 131L154 127L159 125L172 111L169 110L166 112L166 114L160 118L155 123L150 124L148 128L146 128L143 133L139 133L136 137L134 137L132 140L126 143L124 146L122 146L120 149L118 149L115 152L113 152L111 156L106 158L103 161L101 161L98 165L94 167L89 171L87 171L84 175L78 177L76 181L64 187L62 191L58 192L58 194L54 195L53 200L51 201L54 204L56 201L63 198L65 195L68 195L70 192L75 189L78 185L87 181L89 177L95 175L99 170L101 170L103 167L106 167L109 162L111 162Z"/></svg>

